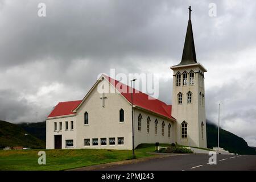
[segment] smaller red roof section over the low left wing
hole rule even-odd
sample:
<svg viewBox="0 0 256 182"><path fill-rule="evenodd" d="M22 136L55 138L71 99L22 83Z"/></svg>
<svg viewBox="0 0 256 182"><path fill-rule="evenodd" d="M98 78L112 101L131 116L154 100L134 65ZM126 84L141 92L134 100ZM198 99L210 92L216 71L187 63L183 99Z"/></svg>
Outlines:
<svg viewBox="0 0 256 182"><path fill-rule="evenodd" d="M51 114L48 115L48 118L50 117L56 117L61 115L70 115L74 114L72 110L76 109L76 107L81 103L82 101L68 101L68 102L59 102L54 109L52 110Z"/></svg>

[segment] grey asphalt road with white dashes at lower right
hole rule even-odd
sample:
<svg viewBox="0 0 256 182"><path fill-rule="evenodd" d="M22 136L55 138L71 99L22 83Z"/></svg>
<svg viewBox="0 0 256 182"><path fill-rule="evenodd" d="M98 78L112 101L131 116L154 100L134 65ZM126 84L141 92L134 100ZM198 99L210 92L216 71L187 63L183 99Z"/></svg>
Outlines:
<svg viewBox="0 0 256 182"><path fill-rule="evenodd" d="M207 154L190 154L151 159L140 163L102 168L104 171L256 171L256 155L217 155L217 164L209 164Z"/></svg>

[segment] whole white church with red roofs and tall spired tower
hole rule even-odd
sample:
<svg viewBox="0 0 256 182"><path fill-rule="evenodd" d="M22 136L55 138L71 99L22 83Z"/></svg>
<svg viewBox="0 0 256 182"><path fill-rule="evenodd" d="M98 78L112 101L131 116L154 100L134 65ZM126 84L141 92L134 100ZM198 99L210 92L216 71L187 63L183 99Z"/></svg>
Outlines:
<svg viewBox="0 0 256 182"><path fill-rule="evenodd" d="M141 143L177 142L206 148L207 70L196 60L190 7L183 55L171 69L172 105L149 99L146 93L101 75L82 100L59 102L54 107L46 118L46 148L131 150L133 130L135 147ZM108 88L107 92L98 92L102 85Z"/></svg>

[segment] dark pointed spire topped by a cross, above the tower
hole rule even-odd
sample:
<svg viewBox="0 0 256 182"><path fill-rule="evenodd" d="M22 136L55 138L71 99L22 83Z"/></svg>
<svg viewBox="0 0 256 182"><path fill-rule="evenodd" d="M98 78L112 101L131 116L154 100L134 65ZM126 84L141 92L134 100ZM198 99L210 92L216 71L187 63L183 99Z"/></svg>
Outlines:
<svg viewBox="0 0 256 182"><path fill-rule="evenodd" d="M185 38L182 59L180 61L180 64L178 65L197 63L196 49L194 44L193 30L192 30L192 23L191 23L191 11L192 11L191 6L189 6L188 9L189 9L189 20L188 20L187 34Z"/></svg>

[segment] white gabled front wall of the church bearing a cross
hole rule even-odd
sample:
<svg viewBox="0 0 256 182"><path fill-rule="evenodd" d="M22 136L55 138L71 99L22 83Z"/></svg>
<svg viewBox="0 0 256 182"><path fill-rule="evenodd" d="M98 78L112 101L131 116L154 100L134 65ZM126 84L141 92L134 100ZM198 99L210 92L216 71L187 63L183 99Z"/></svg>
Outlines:
<svg viewBox="0 0 256 182"><path fill-rule="evenodd" d="M108 82L104 80L105 84ZM109 83L108 83L109 84ZM119 93L105 93L104 107L102 94L97 88L92 90L88 98L77 112L77 148L111 148L132 149L131 105ZM124 110L124 122L119 122L119 110ZM89 124L84 125L84 113L89 114ZM115 138L115 145L109 144L109 138ZM118 145L118 137L124 138L124 144ZM92 145L92 139L98 138L98 146ZM107 144L101 146L100 139L106 138ZM90 146L84 145L84 139L90 139Z"/></svg>

